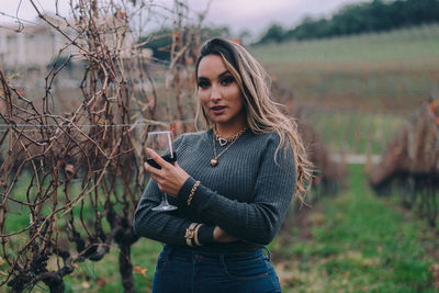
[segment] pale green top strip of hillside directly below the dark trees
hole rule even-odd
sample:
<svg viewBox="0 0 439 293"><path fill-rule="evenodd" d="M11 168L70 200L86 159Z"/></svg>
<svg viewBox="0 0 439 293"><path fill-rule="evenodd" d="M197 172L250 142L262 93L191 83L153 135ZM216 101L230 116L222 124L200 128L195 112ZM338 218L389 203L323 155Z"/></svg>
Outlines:
<svg viewBox="0 0 439 293"><path fill-rule="evenodd" d="M439 24L251 48L262 63L314 64L439 58Z"/></svg>

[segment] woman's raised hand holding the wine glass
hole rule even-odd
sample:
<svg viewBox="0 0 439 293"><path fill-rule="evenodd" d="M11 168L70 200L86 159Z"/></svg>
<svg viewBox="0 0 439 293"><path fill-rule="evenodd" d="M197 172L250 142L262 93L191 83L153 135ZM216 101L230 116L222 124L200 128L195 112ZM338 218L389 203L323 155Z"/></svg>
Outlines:
<svg viewBox="0 0 439 293"><path fill-rule="evenodd" d="M157 182L161 192L168 193L176 198L180 189L183 187L189 174L181 169L176 161L173 165L164 160L156 151L147 148L149 157L153 158L161 169L154 168L147 162L144 164L145 170L151 174L154 181Z"/></svg>

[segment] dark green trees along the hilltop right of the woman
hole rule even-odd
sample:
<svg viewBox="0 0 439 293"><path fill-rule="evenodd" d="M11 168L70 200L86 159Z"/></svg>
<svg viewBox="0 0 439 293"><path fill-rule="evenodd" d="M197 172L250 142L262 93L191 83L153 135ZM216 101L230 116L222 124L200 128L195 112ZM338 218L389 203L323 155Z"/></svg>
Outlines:
<svg viewBox="0 0 439 293"><path fill-rule="evenodd" d="M439 22L439 0L373 0L346 5L329 19L307 16L291 30L272 24L257 44L382 32L434 22Z"/></svg>

